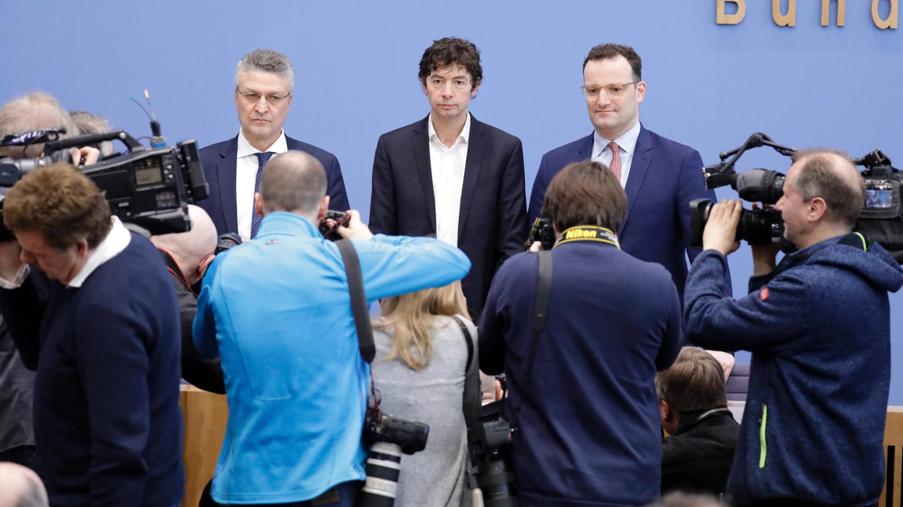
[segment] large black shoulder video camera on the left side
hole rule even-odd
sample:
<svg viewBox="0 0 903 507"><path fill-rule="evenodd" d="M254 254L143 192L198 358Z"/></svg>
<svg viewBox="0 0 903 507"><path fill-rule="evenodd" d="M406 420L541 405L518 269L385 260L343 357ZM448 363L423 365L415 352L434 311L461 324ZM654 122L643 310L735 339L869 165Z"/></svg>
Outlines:
<svg viewBox="0 0 903 507"><path fill-rule="evenodd" d="M47 138L47 132L29 133L33 136L25 141L27 144L40 142L34 139L42 138L41 135ZM4 146L27 146L14 144L23 136L12 139L7 136ZM105 193L110 211L120 220L134 223L151 234L184 232L191 230L189 202L209 195L198 146L193 139L176 146L156 148L142 146L124 130L54 139L57 138L51 136L44 145L44 153L49 153L48 156L0 159L0 186L14 185L23 174L36 167L57 161L71 162L69 148L119 140L128 148L125 154L107 157L81 170ZM5 229L3 232L9 234Z"/></svg>

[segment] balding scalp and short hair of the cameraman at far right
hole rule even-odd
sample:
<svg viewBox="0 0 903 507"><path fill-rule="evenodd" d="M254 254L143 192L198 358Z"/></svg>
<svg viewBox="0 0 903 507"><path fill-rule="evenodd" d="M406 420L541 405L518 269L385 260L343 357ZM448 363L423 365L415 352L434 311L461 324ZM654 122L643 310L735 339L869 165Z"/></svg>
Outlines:
<svg viewBox="0 0 903 507"><path fill-rule="evenodd" d="M804 201L824 199L828 221L852 226L865 204L865 180L850 155L830 148L803 150L787 173Z"/></svg>

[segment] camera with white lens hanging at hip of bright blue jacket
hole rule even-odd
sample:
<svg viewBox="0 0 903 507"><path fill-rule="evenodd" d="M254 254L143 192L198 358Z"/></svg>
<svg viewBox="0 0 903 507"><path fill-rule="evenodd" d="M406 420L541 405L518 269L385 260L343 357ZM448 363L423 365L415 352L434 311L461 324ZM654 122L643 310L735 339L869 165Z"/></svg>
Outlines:
<svg viewBox="0 0 903 507"><path fill-rule="evenodd" d="M413 455L426 447L430 427L424 423L383 414L378 407L368 408L364 418L364 443L367 455L367 480L358 494L360 507L392 507L401 474L401 455Z"/></svg>

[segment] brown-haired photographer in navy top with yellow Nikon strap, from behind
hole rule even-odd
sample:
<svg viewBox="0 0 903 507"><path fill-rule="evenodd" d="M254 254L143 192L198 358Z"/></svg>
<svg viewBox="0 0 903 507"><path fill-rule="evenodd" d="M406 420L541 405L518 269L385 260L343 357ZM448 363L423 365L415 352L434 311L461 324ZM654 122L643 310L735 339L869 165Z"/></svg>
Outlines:
<svg viewBox="0 0 903 507"><path fill-rule="evenodd" d="M507 374L521 506L646 505L658 496L654 379L680 351L680 303L665 268L619 249L614 231L626 212L608 167L568 165L545 192L554 248L509 258L489 289L479 367ZM537 277L545 255L548 292ZM535 309L546 296L547 311Z"/></svg>

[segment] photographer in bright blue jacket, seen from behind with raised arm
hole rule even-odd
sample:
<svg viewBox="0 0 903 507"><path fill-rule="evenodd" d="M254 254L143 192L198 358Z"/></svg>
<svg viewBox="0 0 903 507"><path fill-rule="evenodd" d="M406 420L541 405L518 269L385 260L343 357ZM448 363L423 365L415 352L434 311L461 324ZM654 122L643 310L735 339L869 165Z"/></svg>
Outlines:
<svg viewBox="0 0 903 507"><path fill-rule="evenodd" d="M290 150L263 170L255 239L219 255L198 298L198 352L228 379L213 500L351 506L364 479L369 364L361 358L339 248L318 224L326 172ZM349 211L368 303L461 279L470 260L438 239L370 233ZM299 505L301 503L298 503Z"/></svg>

